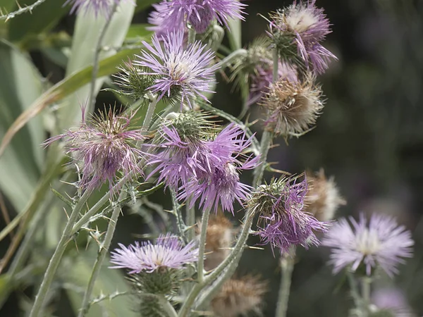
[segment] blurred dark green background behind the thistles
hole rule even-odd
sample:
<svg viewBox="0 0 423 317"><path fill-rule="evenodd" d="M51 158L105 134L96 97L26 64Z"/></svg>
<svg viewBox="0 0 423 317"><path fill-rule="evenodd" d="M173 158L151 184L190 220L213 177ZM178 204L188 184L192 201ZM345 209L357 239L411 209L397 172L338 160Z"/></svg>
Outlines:
<svg viewBox="0 0 423 317"><path fill-rule="evenodd" d="M62 80L68 71L66 67L75 30L75 16L68 15L69 8L62 8L63 2L47 0L32 15L20 15L6 24L0 22L1 38L24 52L22 56L15 56L9 44L1 42L0 94L3 95L0 95L0 135L4 135L6 128L25 105L31 104L51 84ZM142 9L151 2L138 1L139 6L132 22L137 27L130 27L132 33L125 36L126 44L137 44L141 38L148 36L140 23L146 23L149 9ZM30 4L30 1L27 3ZM266 15L269 11L289 5L290 1L250 0L245 1L245 4L248 5L248 15L242 24L243 45L266 30L266 21L258 14ZM0 8L13 10L15 6L14 0L0 0ZM326 175L333 175L341 194L348 201L338 211L338 217L357 216L360 211L388 213L397 216L398 222L414 232L414 258L400 267L400 275L396 280L383 277L376 283L376 287L400 287L416 316L422 316L423 1L317 0L317 6L325 9L333 25L333 32L324 46L339 58L339 61L331 63L325 75L319 77L327 99L324 113L317 122L317 128L307 135L290 139L288 145L283 139L278 139L276 143L280 145L271 149L268 161L277 161L275 168L292 173L301 173L307 168L324 168ZM226 39L223 44L227 44ZM87 39L82 39L80 45L82 49L93 49L92 42ZM19 58L26 59L20 61ZM35 65L35 69L25 64L29 61ZM39 77L37 85L25 82L30 76ZM232 85L222 76L218 77L218 81L217 93L212 99L214 106L238 116L241 111L239 92L233 91ZM23 86L20 89L25 91L23 97L19 97L19 102L13 100L13 93L10 93L11 97L6 96L6 92L17 89L18 83ZM103 87L109 87L109 84L110 81L106 80ZM28 101L23 100L25 98ZM111 92L100 92L97 106L114 104L115 101L119 102ZM5 106L14 102L23 106ZM252 106L250 120L259 116L259 107ZM42 173L40 168L31 167L42 166L42 148L29 149L25 145L28 138L32 139L32 144L39 144L48 136L43 130L37 129L36 120L43 120L44 126L49 127L53 119L51 116L43 116L41 119L39 116L16 136L13 141L15 156L11 156L12 161L13 157L18 159L18 165L13 165L13 168L17 166L16 173L10 170L12 161L5 162L5 158L2 158L3 162L0 161L0 178L3 179L0 180L0 207L8 211L11 218L25 204L19 204L19 197L11 199L9 191L20 191L23 197L27 197ZM258 134L261 128L259 123L254 126ZM267 173L266 177L271 178L271 175ZM250 175L246 174L244 180L250 182ZM51 186L57 189L59 183L54 182ZM26 192L24 187L27 187ZM62 185L60 190L71 190L71 187ZM133 242L134 235L148 232L145 218L141 216L143 213L152 214L153 220L160 225L160 217L152 210L157 207L155 203L164 201L163 196L163 192L156 192L149 197L149 203L144 202L139 210L125 211L125 216L118 223L114 246L117 242ZM170 201L166 201L164 209L170 208ZM49 210L48 206L44 206L44 209L46 213L40 217L46 219L46 228L41 240L34 246L38 254L32 254L25 264L32 271L23 275L23 280L13 287L7 280L0 280L0 316L24 316L23 311L30 306L30 299L34 296L34 287L31 285L39 282L40 273L54 250L55 239L60 233L56 232L56 224L63 223L64 218L57 214L61 209ZM238 213L236 218L242 218L242 214ZM235 224L236 218L233 219ZM4 228L6 222L8 220L2 216L0 227ZM100 228L102 225L104 223L99 223ZM84 239L86 237L78 237L78 240ZM0 256L6 254L10 243L11 235L7 235L0 242ZM250 239L250 245L258 243L254 237ZM83 249L85 246L80 247ZM54 288L57 290L53 302L56 311L49 312L51 316L74 316L73 296L78 294L78 287L84 287L87 281L84 277L90 272L94 259L91 253L91 262L85 263L79 258L76 260L75 249L69 253L70 257L64 261ZM331 267L326 264L328 255L329 250L324 248L299 252L299 261L293 273L288 316L347 316L353 301L348 295L345 277L342 274L335 277L331 275ZM32 268L32 264L35 268ZM264 316L274 316L280 271L278 260L271 250L245 251L238 275L243 273L260 273L264 279L269 280ZM112 274L118 275L116 271L109 273L105 269L105 277ZM105 284L111 283L113 290L112 279L104 278L102 281ZM128 304L130 299L124 299L123 303L131 306ZM101 315L92 312L92 316ZM118 313L116 316L123 315Z"/></svg>

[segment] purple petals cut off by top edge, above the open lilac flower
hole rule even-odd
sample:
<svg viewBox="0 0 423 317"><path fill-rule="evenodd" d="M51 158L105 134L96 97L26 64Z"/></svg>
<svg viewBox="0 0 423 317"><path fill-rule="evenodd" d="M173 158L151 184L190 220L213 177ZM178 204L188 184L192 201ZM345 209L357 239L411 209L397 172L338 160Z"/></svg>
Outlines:
<svg viewBox="0 0 423 317"><path fill-rule="evenodd" d="M159 35L175 30L185 32L190 23L197 33L204 33L212 20L228 26L229 18L243 18L243 8L237 0L171 0L153 4L155 11L149 16L149 23Z"/></svg>

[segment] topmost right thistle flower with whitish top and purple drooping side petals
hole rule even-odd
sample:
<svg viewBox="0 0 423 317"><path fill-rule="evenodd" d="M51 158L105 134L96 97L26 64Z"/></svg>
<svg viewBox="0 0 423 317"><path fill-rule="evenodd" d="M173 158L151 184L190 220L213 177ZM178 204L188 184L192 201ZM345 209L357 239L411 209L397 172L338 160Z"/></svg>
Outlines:
<svg viewBox="0 0 423 317"><path fill-rule="evenodd" d="M316 8L315 2L295 1L286 10L271 14L268 33L281 58L321 74L336 56L320 44L331 30L323 9Z"/></svg>

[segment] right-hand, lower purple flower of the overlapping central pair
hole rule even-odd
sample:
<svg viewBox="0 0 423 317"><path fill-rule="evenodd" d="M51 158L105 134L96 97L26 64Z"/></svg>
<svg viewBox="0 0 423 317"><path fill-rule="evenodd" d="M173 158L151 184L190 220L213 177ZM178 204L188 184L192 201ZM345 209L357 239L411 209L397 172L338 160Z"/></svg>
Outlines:
<svg viewBox="0 0 423 317"><path fill-rule="evenodd" d="M240 182L239 171L257 166L259 156L243 155L251 141L251 138L245 139L245 132L234 123L221 130L215 139L206 144L209 151L207 166L211 173L204 173L201 178L188 182L180 199L190 198L191 206L200 200L204 209L214 206L215 211L220 205L223 211L233 213L233 201L243 204L250 196L250 186Z"/></svg>

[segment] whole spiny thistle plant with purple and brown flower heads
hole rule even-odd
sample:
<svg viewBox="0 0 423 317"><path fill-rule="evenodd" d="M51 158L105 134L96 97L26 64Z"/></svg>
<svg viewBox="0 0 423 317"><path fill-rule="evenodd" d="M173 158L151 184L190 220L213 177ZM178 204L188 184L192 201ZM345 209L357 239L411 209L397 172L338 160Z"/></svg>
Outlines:
<svg viewBox="0 0 423 317"><path fill-rule="evenodd" d="M59 101L76 90L72 85L80 76L90 73L88 80L81 80L90 81L90 86L78 91L87 99L80 125L66 127L65 132L49 127L53 136L43 143L46 157L63 156L63 160L51 168L51 179L40 182L39 197L22 216L27 217L22 228L38 208L65 206L68 216L48 265L42 267L41 284L35 285L30 317L50 313L52 285L69 284L59 282L59 268L92 249L97 251L94 263L84 261L92 266L87 281L74 287L82 297L75 301L80 302L75 310L79 317L103 299L113 302L118 294L130 295L125 300L135 302L133 311L114 311L118 316L133 316L134 311L137 316L171 317L260 314L269 283L254 273L237 275L248 248L273 255L281 283L271 316L286 317L295 263L321 244L331 247L333 273L348 275L355 301L351 314L384 316L386 307L372 303L372 282L381 271L391 278L400 273L398 264L412 256L411 233L384 215L371 216L369 223L363 215L359 221L337 222L345 199L333 176L326 177L323 169L294 176L298 171L277 170L268 159L278 137L286 142L302 137L324 116L324 87L318 76L336 56L324 47L331 25L323 8L314 0L294 1L269 13L264 35L245 49L231 51L222 45L223 29L231 47L243 47L235 43L241 38L238 30L229 25L231 20L245 20L248 1L163 0L153 4L149 14L151 25L145 30L154 31L151 38L145 38L146 31L139 45L109 46L105 44L109 37L116 36L109 26L115 14L123 19L124 3L129 5L121 0L66 1L78 19L92 12L96 19L103 18L104 25L93 42L92 68L73 74L71 84L58 84L54 95L37 101L42 106ZM110 56L99 61L101 52ZM104 80L102 76L111 75L106 69L112 64L113 80ZM238 118L221 109L223 101L214 99L218 72L240 88L244 108ZM99 111L97 90L103 80L106 90L123 104L119 111L116 107ZM56 108L63 106L68 105L52 107L49 116L54 118ZM63 162L68 163L66 174L59 175ZM40 204L47 184L59 183L54 178L73 185L66 187L66 193L54 189L64 205L50 198ZM236 213L241 221L234 220ZM132 244L115 235L122 217L142 220L131 229L137 232L125 232L140 234ZM32 253L31 240L42 233L39 223L34 221L16 253L9 272L13 286L25 279L25 271L34 271L27 266L19 272L31 262L27 255ZM259 237L257 246L247 245L251 236L257 242ZM69 242L75 242L78 252L69 252ZM96 298L104 268L121 281L114 287L126 288L109 295L102 291ZM109 306L102 309L109 313Z"/></svg>

